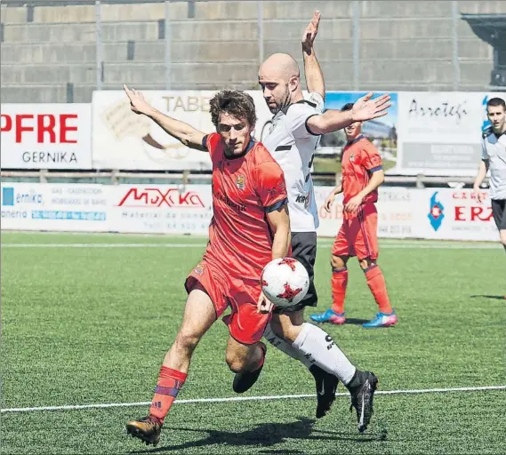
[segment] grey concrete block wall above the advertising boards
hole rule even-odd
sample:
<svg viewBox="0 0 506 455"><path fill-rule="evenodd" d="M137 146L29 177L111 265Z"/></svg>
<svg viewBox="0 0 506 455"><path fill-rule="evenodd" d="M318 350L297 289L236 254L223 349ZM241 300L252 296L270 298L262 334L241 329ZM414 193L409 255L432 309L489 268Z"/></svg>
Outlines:
<svg viewBox="0 0 506 455"><path fill-rule="evenodd" d="M96 87L93 4L1 6L2 102L90 102ZM352 90L352 2L272 1L263 6L265 56L300 60L301 32L323 12L317 52L329 90ZM374 90L453 90L452 2L360 2L359 85ZM459 12L506 12L506 2L459 2ZM256 2L107 4L100 8L102 88L123 82L165 87L165 34L171 37L173 89L257 87ZM458 22L461 90L484 90L493 48Z"/></svg>

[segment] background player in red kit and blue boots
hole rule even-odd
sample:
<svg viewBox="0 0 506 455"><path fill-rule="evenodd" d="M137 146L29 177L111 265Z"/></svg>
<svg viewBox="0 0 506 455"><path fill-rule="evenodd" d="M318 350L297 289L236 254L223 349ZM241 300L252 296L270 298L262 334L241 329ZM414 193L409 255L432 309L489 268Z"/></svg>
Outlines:
<svg viewBox="0 0 506 455"><path fill-rule="evenodd" d="M353 104L348 103L342 110L351 108ZM385 278L376 263L378 212L374 203L378 200L378 187L385 180L382 156L362 135L361 122L350 124L344 131L348 143L342 150L341 185L334 188L325 201L325 210L330 212L335 196L344 194L342 226L333 243L331 259L333 305L325 313L310 317L317 323L345 323L344 297L348 284L346 264L350 256L357 256L367 285L380 309L376 317L363 326L388 327L398 323L398 316L390 305Z"/></svg>

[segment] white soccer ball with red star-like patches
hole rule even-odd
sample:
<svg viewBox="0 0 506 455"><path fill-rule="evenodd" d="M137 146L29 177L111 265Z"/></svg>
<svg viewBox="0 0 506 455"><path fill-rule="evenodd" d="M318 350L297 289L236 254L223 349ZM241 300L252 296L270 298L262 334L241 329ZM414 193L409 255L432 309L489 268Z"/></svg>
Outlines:
<svg viewBox="0 0 506 455"><path fill-rule="evenodd" d="M308 271L297 259L271 260L261 272L261 290L277 307L296 305L308 289Z"/></svg>

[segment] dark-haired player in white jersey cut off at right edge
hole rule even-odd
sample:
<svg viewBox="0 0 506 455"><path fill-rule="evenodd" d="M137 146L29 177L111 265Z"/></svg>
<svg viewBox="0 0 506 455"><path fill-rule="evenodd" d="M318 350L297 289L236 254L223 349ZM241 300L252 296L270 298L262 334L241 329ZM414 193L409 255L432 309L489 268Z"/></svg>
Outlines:
<svg viewBox="0 0 506 455"><path fill-rule="evenodd" d="M482 153L474 193L481 204L485 195L480 185L490 170L490 199L495 226L499 229L502 246L506 251L506 103L492 98L486 103L486 116L491 126L483 132ZM505 296L506 299L506 296Z"/></svg>

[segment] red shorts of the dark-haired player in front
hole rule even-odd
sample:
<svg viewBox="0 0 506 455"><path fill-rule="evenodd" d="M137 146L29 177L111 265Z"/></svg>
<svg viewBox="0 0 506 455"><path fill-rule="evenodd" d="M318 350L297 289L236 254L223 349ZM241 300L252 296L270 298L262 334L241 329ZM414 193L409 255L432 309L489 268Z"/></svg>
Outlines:
<svg viewBox="0 0 506 455"><path fill-rule="evenodd" d="M261 293L260 280L232 278L223 268L202 260L186 279L189 293L202 286L213 301L216 317L230 307L232 312L223 317L230 335L239 343L253 345L261 340L270 313L257 313L256 306Z"/></svg>

